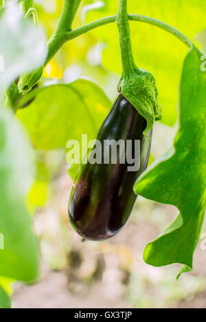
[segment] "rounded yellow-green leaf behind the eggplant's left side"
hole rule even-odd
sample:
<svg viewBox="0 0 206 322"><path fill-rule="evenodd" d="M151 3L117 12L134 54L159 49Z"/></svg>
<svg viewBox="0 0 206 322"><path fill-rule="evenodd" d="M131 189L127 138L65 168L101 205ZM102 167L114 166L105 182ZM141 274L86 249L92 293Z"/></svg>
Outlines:
<svg viewBox="0 0 206 322"><path fill-rule="evenodd" d="M66 148L68 140L78 140L82 134L92 140L111 108L103 90L87 79L71 84L45 84L25 97L34 101L16 116L25 125L36 149ZM25 100L21 102L21 105ZM21 106L20 105L20 106ZM19 107L20 107L19 106ZM79 164L69 173L75 177Z"/></svg>

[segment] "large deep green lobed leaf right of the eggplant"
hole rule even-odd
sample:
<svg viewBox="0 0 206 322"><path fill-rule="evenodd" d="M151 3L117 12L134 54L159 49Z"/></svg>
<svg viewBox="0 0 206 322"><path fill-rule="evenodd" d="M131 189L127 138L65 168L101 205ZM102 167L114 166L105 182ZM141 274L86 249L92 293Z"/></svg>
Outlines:
<svg viewBox="0 0 206 322"><path fill-rule="evenodd" d="M194 48L185 59L180 127L174 148L152 164L135 184L135 193L180 210L174 223L144 251L144 260L156 267L177 262L192 269L205 214L206 73L201 71L201 56Z"/></svg>

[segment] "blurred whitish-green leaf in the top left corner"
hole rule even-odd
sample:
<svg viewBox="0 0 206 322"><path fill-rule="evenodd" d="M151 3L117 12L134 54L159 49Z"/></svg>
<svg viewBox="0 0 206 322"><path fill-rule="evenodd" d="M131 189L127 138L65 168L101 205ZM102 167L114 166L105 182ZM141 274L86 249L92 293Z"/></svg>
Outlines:
<svg viewBox="0 0 206 322"><path fill-rule="evenodd" d="M41 66L47 55L45 36L31 21L23 20L19 5L13 1L6 5L0 20L0 47L3 76L0 86L6 88L21 72ZM1 72L2 73L2 72Z"/></svg>

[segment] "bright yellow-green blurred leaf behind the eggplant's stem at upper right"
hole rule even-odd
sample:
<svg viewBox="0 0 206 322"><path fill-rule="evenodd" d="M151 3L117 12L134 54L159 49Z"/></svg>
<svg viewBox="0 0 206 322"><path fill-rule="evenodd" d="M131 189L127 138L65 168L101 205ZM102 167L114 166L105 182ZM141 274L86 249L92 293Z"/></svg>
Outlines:
<svg viewBox="0 0 206 322"><path fill-rule="evenodd" d="M85 4L93 1L84 1ZM117 0L104 0L105 6L87 14L87 22L117 13ZM145 0L128 1L130 14L144 14L176 27L183 34L194 36L206 27L205 3L201 0ZM157 79L159 104L163 107L163 123L173 125L177 119L177 89L181 79L181 66L187 48L167 32L145 23L131 22L133 50L137 66L150 71ZM121 74L119 37L115 24L93 31L106 42L102 60L104 66Z"/></svg>

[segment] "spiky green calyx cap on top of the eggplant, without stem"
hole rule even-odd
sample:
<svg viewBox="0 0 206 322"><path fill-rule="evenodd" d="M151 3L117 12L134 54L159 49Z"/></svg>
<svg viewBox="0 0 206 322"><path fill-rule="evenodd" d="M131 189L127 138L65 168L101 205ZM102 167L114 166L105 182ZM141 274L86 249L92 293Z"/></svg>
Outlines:
<svg viewBox="0 0 206 322"><path fill-rule="evenodd" d="M161 108L157 102L158 90L155 77L151 73L137 69L126 77L122 76L117 88L146 119L145 132L152 129L155 121L161 120Z"/></svg>

